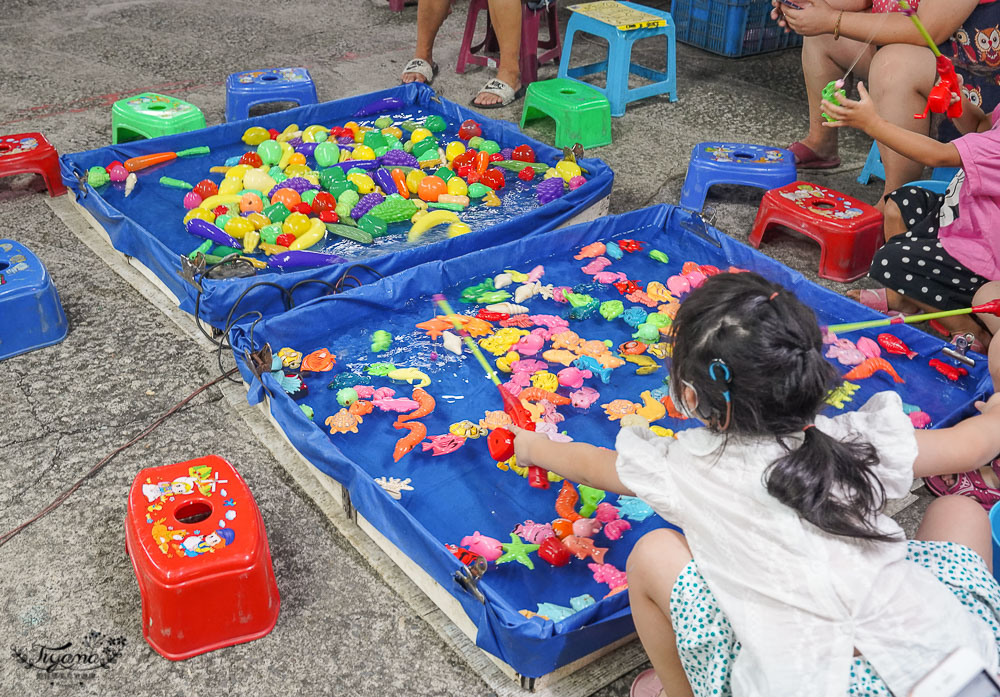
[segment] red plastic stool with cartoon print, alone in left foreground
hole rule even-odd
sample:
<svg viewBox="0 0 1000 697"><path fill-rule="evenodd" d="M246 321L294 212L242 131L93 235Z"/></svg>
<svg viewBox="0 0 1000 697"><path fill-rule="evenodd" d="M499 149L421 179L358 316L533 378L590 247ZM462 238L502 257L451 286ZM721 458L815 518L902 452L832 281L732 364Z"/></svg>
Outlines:
<svg viewBox="0 0 1000 697"><path fill-rule="evenodd" d="M260 511L218 455L144 469L132 482L125 543L142 594L142 633L180 661L259 639L281 600Z"/></svg>

